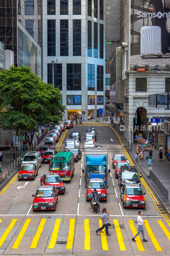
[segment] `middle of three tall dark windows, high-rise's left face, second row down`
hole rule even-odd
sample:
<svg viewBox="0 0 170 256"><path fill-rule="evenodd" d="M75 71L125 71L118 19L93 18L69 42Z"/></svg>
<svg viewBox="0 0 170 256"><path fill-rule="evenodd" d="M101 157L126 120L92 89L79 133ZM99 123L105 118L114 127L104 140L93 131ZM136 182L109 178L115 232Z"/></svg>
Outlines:
<svg viewBox="0 0 170 256"><path fill-rule="evenodd" d="M68 20L60 20L60 56L68 56Z"/></svg>

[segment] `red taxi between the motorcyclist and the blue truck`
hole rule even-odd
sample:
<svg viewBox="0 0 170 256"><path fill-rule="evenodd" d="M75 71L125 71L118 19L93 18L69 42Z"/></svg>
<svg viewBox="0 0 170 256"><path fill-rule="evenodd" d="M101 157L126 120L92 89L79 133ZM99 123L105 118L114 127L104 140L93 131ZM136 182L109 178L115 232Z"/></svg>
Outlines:
<svg viewBox="0 0 170 256"><path fill-rule="evenodd" d="M103 178L95 178L96 174L90 174L89 175L89 182L87 183L87 186L85 186L85 188L87 188L87 192L86 192L86 201L91 200L91 194L94 191L94 189L96 188L96 191L98 192L98 194L100 194L100 198L99 200L102 201L107 201L107 189L108 187L106 187L106 184L103 180L104 178L104 174L103 174ZM100 175L102 176L102 175Z"/></svg>

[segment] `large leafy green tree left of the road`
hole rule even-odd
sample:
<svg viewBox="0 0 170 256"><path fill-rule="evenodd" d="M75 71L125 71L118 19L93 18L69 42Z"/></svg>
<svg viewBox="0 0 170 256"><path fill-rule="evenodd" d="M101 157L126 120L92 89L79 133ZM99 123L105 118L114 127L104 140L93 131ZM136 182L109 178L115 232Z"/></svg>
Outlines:
<svg viewBox="0 0 170 256"><path fill-rule="evenodd" d="M42 124L58 124L65 106L60 90L44 83L31 68L11 66L0 71L0 110L1 127L18 135L35 132Z"/></svg>

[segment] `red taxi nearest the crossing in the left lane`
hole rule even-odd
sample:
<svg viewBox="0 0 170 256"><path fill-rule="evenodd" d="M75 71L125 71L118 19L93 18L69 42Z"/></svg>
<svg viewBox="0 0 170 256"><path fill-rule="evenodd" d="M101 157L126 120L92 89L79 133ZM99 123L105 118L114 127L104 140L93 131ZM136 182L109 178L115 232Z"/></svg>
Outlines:
<svg viewBox="0 0 170 256"><path fill-rule="evenodd" d="M53 210L55 212L58 192L54 186L39 186L32 204L32 211Z"/></svg>

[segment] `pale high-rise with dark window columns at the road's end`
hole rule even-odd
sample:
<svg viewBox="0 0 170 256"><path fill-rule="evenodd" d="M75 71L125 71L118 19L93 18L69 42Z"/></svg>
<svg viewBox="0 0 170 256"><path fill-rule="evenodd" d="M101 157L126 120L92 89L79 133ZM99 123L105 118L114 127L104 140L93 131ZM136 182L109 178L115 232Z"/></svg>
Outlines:
<svg viewBox="0 0 170 256"><path fill-rule="evenodd" d="M67 119L105 107L104 0L42 1L42 78L61 90Z"/></svg>

